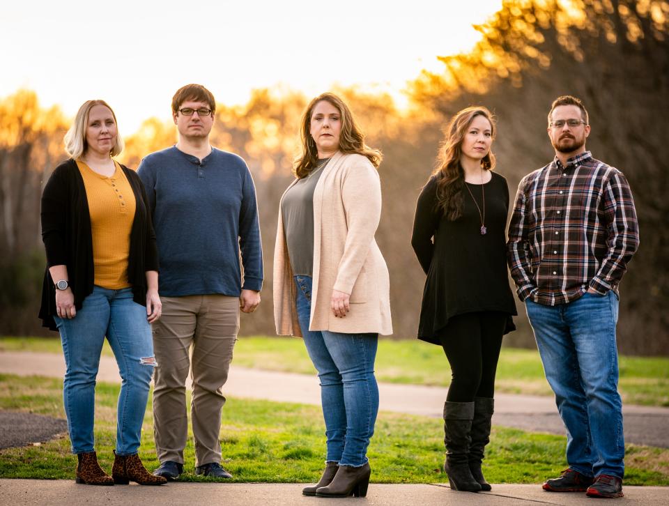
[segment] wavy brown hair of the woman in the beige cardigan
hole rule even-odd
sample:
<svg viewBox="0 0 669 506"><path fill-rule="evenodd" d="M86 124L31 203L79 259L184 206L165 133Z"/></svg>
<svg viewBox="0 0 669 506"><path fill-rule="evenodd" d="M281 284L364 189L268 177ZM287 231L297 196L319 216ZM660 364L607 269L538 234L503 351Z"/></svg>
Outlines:
<svg viewBox="0 0 669 506"><path fill-rule="evenodd" d="M343 153L357 153L358 155L366 156L374 167L378 168L383 155L378 149L370 148L364 144L364 134L357 125L351 109L348 108L346 102L341 100L334 93L322 93L314 100L309 102L307 109L302 114L300 121L300 139L302 141L302 155L295 159L293 166L293 173L298 178L305 178L309 172L318 165L318 148L316 148L316 141L311 135L309 125L312 121L312 114L314 107L318 102L330 102L337 108L341 115L341 133L339 134L339 151Z"/></svg>

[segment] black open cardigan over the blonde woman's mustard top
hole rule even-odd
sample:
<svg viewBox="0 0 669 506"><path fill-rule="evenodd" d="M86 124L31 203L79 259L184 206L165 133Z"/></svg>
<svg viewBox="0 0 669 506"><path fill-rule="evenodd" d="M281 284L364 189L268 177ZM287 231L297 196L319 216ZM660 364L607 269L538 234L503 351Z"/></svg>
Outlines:
<svg viewBox="0 0 669 506"><path fill-rule="evenodd" d="M148 212L144 186L137 174L121 165L130 182L136 201L134 220L130 229L128 282L132 285L132 300L146 305L146 271L158 270L155 232ZM47 252L47 268L42 284L42 325L56 329L56 287L49 267L65 265L75 307L82 309L84 299L93 292L93 236L91 215L86 198L84 178L75 160L67 160L54 170L42 194L42 240ZM55 280L57 281L57 279Z"/></svg>

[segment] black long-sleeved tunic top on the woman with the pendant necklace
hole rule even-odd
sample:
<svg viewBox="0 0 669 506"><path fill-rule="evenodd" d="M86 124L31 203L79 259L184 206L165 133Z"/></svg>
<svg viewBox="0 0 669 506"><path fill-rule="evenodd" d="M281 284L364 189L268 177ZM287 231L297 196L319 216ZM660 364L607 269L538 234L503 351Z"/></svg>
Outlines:
<svg viewBox="0 0 669 506"><path fill-rule="evenodd" d="M455 221L443 217L436 206L436 176L418 197L411 245L427 275L418 339L440 344L438 332L450 318L482 311L508 314L505 333L515 330L511 315L517 313L507 278L505 235L509 187L504 177L491 175L484 185L465 183L481 210L485 190L484 235L479 210L466 188L462 215Z"/></svg>

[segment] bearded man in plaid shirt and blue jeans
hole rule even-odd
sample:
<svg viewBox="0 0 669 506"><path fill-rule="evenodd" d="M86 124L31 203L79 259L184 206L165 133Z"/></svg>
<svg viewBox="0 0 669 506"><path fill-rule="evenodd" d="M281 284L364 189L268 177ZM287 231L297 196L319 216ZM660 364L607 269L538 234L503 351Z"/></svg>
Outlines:
<svg viewBox="0 0 669 506"><path fill-rule="evenodd" d="M562 475L543 488L621 497L622 401L617 392L618 285L639 244L625 176L585 150L587 111L557 98L548 113L555 159L518 185L508 259L567 428Z"/></svg>

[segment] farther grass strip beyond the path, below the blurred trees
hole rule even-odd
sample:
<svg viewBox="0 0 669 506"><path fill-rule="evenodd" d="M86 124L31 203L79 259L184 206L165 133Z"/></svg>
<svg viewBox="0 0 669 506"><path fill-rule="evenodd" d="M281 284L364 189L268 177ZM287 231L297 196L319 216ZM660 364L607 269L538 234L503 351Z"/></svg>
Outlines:
<svg viewBox="0 0 669 506"><path fill-rule="evenodd" d="M61 344L59 339L2 337L0 351L3 349L60 353ZM106 344L103 353L112 354ZM314 373L302 339L294 337L240 337L233 364ZM376 376L380 381L392 383L448 386L451 369L439 346L417 339L381 339ZM536 350L502 348L495 384L498 392L552 395ZM669 406L669 358L621 357L619 388L626 403Z"/></svg>

